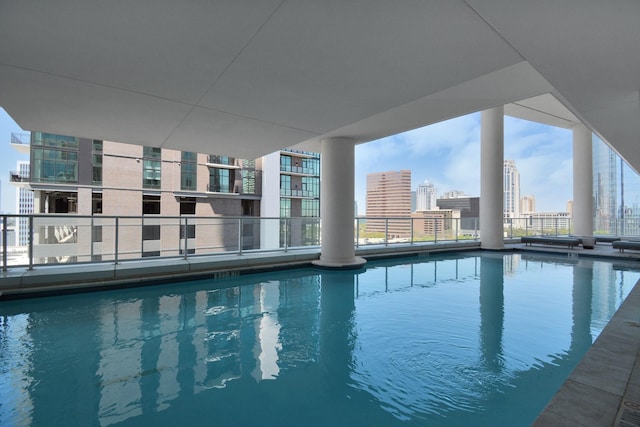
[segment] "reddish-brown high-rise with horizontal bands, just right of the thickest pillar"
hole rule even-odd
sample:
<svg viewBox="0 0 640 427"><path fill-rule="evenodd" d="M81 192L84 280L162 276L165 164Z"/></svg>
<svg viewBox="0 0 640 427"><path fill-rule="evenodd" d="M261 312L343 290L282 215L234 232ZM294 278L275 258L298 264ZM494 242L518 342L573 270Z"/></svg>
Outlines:
<svg viewBox="0 0 640 427"><path fill-rule="evenodd" d="M389 217L384 220L376 217ZM388 171L367 175L367 231L385 232L394 237L411 235L411 171Z"/></svg>

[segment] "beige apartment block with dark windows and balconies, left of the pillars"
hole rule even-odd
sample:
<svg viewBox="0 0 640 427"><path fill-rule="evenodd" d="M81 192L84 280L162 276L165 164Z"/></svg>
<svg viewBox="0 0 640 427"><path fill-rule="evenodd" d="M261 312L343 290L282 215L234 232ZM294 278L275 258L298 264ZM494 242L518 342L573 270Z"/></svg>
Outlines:
<svg viewBox="0 0 640 427"><path fill-rule="evenodd" d="M39 227L36 242L75 243L82 246L79 253L101 254L102 246L114 244L107 241L113 239L112 233L102 233L103 227L113 227L109 217L131 216L142 217L142 225L122 228L130 235L123 231L127 235L120 235L118 250L132 258L179 255L185 250L192 254L202 247L208 252L211 248L237 250L237 227L222 227L222 221L221 227L212 226L211 218L266 214L275 218L273 224L257 219L242 222L242 249L278 247L285 239L289 246L318 244L317 153L282 150L245 160L40 132L32 132L30 138L30 168L12 172L11 180L32 192L31 212L91 217L93 230L89 242L79 242L76 225ZM18 148L24 149L24 144ZM263 166L269 172L265 186ZM269 197L262 196L263 188L268 189ZM188 222L180 230L162 219L177 216ZM280 217L291 219L280 221ZM201 218L208 223L198 225L204 224ZM63 261L85 260L70 257ZM61 260L51 257L42 262Z"/></svg>

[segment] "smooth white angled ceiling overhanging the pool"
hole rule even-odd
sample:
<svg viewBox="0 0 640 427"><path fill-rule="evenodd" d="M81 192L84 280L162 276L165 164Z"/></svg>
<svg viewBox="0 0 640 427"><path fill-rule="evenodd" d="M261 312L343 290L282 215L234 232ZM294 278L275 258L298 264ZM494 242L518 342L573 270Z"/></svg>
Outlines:
<svg viewBox="0 0 640 427"><path fill-rule="evenodd" d="M578 117L640 169L639 22L637 0L0 0L0 105L28 130L255 158L510 104Z"/></svg>

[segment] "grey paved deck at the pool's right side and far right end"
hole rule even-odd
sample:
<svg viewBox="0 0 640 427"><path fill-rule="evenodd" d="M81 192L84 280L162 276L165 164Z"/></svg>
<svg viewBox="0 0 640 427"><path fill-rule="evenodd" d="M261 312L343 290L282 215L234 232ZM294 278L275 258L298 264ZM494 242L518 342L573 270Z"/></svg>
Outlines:
<svg viewBox="0 0 640 427"><path fill-rule="evenodd" d="M507 245L578 257L636 260L611 244L594 249ZM636 284L587 354L533 423L547 426L640 426L640 284Z"/></svg>

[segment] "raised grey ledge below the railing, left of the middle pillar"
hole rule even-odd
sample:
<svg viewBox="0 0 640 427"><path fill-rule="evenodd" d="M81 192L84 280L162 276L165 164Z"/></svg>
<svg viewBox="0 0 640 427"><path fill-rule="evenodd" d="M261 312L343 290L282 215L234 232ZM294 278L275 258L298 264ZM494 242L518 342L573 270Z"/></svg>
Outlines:
<svg viewBox="0 0 640 427"><path fill-rule="evenodd" d="M393 244L360 247L356 249L356 255L365 259L377 259L479 249L478 241ZM0 272L0 301L149 286L178 279L218 279L264 271L311 267L312 262L319 258L320 248L313 247L187 258L154 258L118 263L42 265L31 270L27 267L13 267L6 272Z"/></svg>

